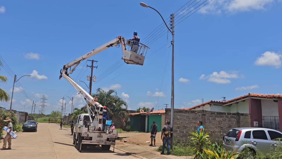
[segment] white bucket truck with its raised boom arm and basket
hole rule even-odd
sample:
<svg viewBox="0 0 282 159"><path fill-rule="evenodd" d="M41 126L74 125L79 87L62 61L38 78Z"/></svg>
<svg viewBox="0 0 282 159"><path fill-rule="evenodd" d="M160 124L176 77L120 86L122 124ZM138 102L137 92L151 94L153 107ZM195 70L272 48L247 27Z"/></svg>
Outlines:
<svg viewBox="0 0 282 159"><path fill-rule="evenodd" d="M139 49L136 52L133 52L130 49L130 47L132 47L134 44L138 44L139 46ZM126 45L128 45L128 48L126 48ZM85 146L89 144L101 145L103 150L109 150L110 145L115 146L117 130L113 130L112 132L108 130L102 131L104 107L98 102L98 97L92 97L91 95L89 95L87 91L85 91L82 87L80 87L80 85L78 85L72 78L69 77L69 74L72 73L75 70L75 67L77 67L78 64L80 64L80 62L82 62L83 60L109 47L114 46L121 46L123 52L122 59L125 61L125 63L137 65L143 65L147 50L150 49L146 45L132 40L127 40L127 42L125 43L125 38L118 36L110 42L107 42L102 46L84 54L83 56L78 57L72 62L65 64L60 72L61 75L59 79L61 79L61 77L64 77L73 87L75 87L75 89L82 97L84 97L89 103L93 105L92 111L87 104L88 114L78 115L78 118L74 123L75 128L73 135L73 144L80 152ZM71 68L72 66L74 67ZM68 71L69 68L70 71Z"/></svg>

